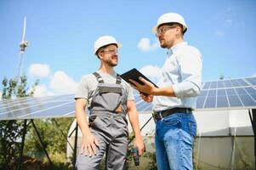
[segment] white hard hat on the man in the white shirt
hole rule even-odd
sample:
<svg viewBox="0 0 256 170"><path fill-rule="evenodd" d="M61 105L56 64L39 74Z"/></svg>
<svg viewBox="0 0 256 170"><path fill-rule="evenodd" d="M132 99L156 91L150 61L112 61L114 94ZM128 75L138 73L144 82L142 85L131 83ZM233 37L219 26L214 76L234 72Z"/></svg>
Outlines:
<svg viewBox="0 0 256 170"><path fill-rule="evenodd" d="M179 23L180 25L183 26L183 33L187 30L187 26L185 24L184 18L177 13L167 13L167 14L162 14L159 19L157 20L156 26L153 27L152 31L156 34L156 31L158 29L158 26L166 23Z"/></svg>

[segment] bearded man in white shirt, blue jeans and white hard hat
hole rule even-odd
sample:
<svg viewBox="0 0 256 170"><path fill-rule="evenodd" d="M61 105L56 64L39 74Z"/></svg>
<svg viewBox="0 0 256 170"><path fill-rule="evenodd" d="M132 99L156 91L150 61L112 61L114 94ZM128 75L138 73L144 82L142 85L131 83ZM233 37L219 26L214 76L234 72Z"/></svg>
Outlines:
<svg viewBox="0 0 256 170"><path fill-rule="evenodd" d="M184 41L187 26L176 13L162 14L153 32L162 48L168 49L168 58L161 69L156 88L142 77L134 88L146 102L153 102L156 120L157 169L193 169L192 146L196 137L196 96L202 83L202 54Z"/></svg>

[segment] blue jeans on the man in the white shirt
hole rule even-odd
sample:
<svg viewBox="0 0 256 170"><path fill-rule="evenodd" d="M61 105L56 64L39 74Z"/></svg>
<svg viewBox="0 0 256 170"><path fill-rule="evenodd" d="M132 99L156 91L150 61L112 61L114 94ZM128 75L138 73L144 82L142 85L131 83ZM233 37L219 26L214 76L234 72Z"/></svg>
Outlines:
<svg viewBox="0 0 256 170"><path fill-rule="evenodd" d="M193 169L192 148L195 137L196 120L192 114L174 113L157 121L157 169Z"/></svg>

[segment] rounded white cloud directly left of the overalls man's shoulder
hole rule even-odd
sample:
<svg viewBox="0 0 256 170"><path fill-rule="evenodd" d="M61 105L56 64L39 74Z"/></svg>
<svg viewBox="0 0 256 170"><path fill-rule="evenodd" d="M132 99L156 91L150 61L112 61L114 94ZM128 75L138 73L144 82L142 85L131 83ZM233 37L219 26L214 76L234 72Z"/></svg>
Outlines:
<svg viewBox="0 0 256 170"><path fill-rule="evenodd" d="M64 71L56 71L54 77L51 78L49 86L54 94L74 94L78 83L67 76Z"/></svg>

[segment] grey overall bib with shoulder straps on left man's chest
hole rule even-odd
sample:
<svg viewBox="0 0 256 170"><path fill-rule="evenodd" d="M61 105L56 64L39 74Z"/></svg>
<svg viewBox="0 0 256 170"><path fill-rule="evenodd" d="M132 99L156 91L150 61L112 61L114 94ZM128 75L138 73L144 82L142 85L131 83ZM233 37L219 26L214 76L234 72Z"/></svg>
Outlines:
<svg viewBox="0 0 256 170"><path fill-rule="evenodd" d="M92 108L94 111L122 111L122 86L121 77L118 78L116 84L104 83L102 77L94 72L99 84L92 100Z"/></svg>

